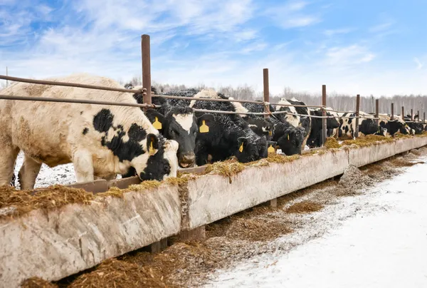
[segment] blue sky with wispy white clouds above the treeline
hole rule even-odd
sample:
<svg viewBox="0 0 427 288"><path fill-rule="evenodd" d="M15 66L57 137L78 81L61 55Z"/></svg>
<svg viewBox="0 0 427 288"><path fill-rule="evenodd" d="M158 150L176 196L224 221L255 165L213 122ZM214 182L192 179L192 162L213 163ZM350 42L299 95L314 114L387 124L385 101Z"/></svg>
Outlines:
<svg viewBox="0 0 427 288"><path fill-rule="evenodd" d="M32 78L141 71L208 86L319 93L427 94L427 1L0 0L0 69ZM2 72L4 73L4 72Z"/></svg>

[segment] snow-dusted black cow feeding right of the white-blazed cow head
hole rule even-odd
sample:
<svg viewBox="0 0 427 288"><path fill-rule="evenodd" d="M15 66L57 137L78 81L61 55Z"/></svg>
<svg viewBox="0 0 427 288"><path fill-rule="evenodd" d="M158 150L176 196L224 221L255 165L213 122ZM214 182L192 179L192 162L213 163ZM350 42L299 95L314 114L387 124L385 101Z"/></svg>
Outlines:
<svg viewBox="0 0 427 288"><path fill-rule="evenodd" d="M212 89L169 91L164 95L218 99L225 97ZM236 106L230 102L167 99L167 103L172 106L194 109L236 111ZM196 112L197 117L203 115L206 113ZM266 158L268 156L268 143L265 136L259 136L253 132L241 115L213 113L201 121L194 152L196 154L196 165L199 166L226 160L231 156L236 156L241 163L248 163Z"/></svg>

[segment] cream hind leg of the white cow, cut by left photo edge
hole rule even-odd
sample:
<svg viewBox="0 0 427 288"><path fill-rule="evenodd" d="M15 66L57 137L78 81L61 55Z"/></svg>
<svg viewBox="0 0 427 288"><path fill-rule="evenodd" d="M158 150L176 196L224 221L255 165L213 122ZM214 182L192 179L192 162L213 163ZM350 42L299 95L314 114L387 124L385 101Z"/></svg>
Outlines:
<svg viewBox="0 0 427 288"><path fill-rule="evenodd" d="M0 186L9 186L14 176L15 161L16 157L18 157L19 148L14 147L11 143L1 141L1 138L0 143Z"/></svg>

